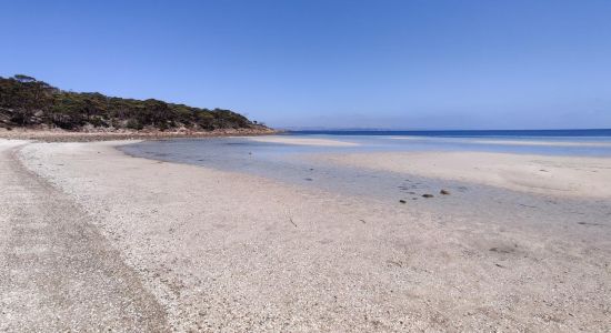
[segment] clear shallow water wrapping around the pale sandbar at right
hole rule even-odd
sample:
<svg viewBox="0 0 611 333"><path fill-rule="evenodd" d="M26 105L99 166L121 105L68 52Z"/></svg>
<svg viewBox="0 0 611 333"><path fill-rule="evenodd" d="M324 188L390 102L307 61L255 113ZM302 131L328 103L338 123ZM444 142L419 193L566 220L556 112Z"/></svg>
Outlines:
<svg viewBox="0 0 611 333"><path fill-rule="evenodd" d="M121 148L126 153L161 161L203 165L224 171L253 174L293 185L332 193L407 205L457 219L529 223L544 228L549 223L601 225L611 216L608 200L553 198L514 192L493 186L450 180L407 175L380 170L330 164L312 159L319 153L357 153L374 151L492 151L557 155L611 157L611 147L520 145L477 143L481 138L410 138L362 135L299 135L359 143L357 147L308 147L251 141L247 138L179 139L146 141ZM569 140L570 139L570 140ZM494 140L502 140L495 138ZM540 140L550 138L510 138ZM553 138L567 142L610 142L609 138ZM442 189L450 195L441 195ZM433 194L425 199L423 194ZM401 203L400 200L405 203ZM467 209L468 208L468 209ZM545 222L548 221L548 222ZM602 226L601 226L602 228ZM607 228L607 226L603 226ZM593 233L595 234L595 233Z"/></svg>

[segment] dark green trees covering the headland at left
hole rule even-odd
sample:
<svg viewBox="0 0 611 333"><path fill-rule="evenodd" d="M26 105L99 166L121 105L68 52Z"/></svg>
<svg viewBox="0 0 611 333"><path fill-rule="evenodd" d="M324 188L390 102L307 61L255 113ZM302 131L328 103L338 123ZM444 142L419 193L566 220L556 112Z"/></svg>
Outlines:
<svg viewBox="0 0 611 333"><path fill-rule="evenodd" d="M14 75L0 77L0 127L211 131L261 125L230 110L62 91L31 77Z"/></svg>

